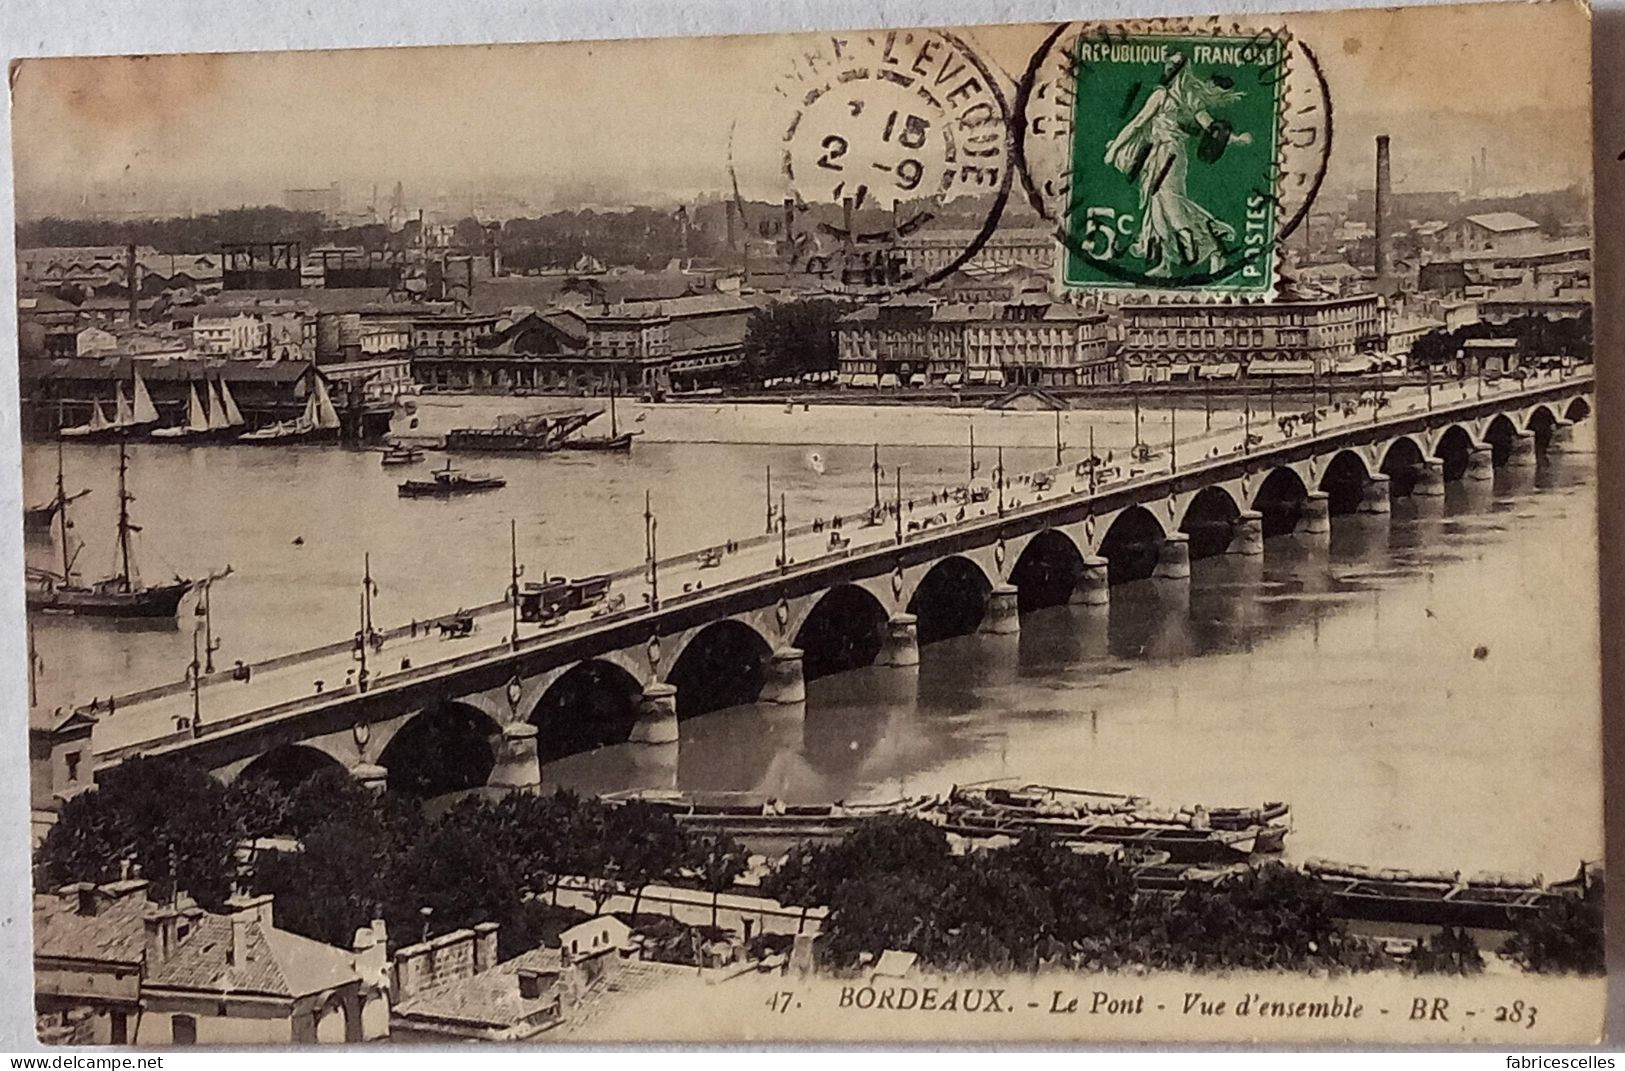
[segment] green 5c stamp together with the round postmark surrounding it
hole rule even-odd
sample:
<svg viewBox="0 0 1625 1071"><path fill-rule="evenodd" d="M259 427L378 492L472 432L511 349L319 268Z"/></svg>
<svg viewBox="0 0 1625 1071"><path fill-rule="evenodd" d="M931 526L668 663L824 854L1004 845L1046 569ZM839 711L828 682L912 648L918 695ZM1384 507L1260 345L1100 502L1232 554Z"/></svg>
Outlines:
<svg viewBox="0 0 1625 1071"><path fill-rule="evenodd" d="M1331 154L1305 42L1220 20L1071 23L1034 54L1016 109L1064 286L1274 296Z"/></svg>

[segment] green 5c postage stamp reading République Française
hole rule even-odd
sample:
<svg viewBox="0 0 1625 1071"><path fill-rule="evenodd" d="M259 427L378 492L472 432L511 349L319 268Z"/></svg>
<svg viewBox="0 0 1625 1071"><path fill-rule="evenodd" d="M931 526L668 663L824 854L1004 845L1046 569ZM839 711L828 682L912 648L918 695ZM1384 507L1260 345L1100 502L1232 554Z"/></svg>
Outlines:
<svg viewBox="0 0 1625 1071"><path fill-rule="evenodd" d="M1071 55L1063 281L1271 293L1284 41L1121 34Z"/></svg>

